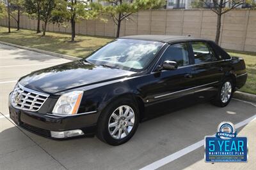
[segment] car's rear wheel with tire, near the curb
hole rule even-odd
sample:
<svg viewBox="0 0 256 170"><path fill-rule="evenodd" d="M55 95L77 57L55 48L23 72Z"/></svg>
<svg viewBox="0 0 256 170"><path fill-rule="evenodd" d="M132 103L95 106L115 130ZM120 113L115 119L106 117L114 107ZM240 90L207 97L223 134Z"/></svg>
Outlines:
<svg viewBox="0 0 256 170"><path fill-rule="evenodd" d="M232 99L234 92L234 84L230 78L226 78L219 89L218 95L214 100L216 106L225 107Z"/></svg>

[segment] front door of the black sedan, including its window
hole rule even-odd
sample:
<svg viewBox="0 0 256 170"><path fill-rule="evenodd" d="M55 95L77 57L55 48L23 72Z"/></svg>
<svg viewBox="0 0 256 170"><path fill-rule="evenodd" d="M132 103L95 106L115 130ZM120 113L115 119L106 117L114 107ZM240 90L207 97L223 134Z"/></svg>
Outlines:
<svg viewBox="0 0 256 170"><path fill-rule="evenodd" d="M163 110L176 108L177 104L184 106L191 101L189 96L193 96L193 87L195 86L193 85L189 49L187 43L177 43L168 46L161 56L157 67L161 67L165 60L170 60L177 62L178 68L159 71L156 67L149 75L150 82L143 89L144 92L147 92L148 113L158 115Z"/></svg>

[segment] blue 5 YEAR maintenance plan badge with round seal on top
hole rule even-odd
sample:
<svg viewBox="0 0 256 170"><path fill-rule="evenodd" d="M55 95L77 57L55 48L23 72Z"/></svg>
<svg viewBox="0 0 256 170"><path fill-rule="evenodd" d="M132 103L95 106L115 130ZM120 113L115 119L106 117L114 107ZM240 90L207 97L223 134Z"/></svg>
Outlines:
<svg viewBox="0 0 256 170"><path fill-rule="evenodd" d="M246 162L246 137L237 137L231 122L221 122L215 137L205 137L205 162Z"/></svg>

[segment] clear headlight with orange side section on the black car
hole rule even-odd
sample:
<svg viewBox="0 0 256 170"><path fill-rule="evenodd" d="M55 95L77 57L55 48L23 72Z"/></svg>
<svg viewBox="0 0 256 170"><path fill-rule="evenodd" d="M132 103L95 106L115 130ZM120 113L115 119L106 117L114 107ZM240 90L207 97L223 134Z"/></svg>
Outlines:
<svg viewBox="0 0 256 170"><path fill-rule="evenodd" d="M74 115L77 113L83 96L82 91L74 91L63 94L55 104L52 113L61 115Z"/></svg>

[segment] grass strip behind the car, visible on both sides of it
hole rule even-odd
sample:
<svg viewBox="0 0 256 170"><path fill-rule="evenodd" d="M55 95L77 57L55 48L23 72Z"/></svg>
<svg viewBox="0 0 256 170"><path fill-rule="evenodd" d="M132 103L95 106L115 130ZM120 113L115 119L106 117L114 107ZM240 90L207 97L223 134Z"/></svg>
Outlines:
<svg viewBox="0 0 256 170"><path fill-rule="evenodd" d="M12 33L8 34L6 27L0 28L0 41L81 58L86 57L86 55L112 39L100 36L77 35L76 42L70 43L70 34L46 32L46 36L42 37L42 34L36 34L35 31L31 30L21 29L20 31L15 31L15 29L12 29ZM256 53L234 50L227 50L227 52L232 56L243 57L245 60L248 79L246 85L240 90L256 94Z"/></svg>

